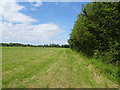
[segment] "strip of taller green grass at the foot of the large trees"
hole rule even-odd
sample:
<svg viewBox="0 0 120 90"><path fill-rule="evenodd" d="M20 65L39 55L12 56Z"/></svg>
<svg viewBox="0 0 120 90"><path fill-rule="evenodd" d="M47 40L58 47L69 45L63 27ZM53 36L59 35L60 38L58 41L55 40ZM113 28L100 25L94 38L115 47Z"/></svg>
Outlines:
<svg viewBox="0 0 120 90"><path fill-rule="evenodd" d="M95 69L99 70L100 74L106 76L110 80L120 84L120 66L103 62L100 58L86 57L84 54L79 53L87 63L92 64Z"/></svg>

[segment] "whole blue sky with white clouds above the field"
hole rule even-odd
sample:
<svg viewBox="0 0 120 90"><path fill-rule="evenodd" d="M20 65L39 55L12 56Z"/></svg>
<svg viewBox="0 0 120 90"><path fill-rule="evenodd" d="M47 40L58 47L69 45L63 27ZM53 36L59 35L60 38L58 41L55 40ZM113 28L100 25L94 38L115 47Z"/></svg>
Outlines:
<svg viewBox="0 0 120 90"><path fill-rule="evenodd" d="M5 43L67 44L71 29L88 2L0 3L2 40Z"/></svg>

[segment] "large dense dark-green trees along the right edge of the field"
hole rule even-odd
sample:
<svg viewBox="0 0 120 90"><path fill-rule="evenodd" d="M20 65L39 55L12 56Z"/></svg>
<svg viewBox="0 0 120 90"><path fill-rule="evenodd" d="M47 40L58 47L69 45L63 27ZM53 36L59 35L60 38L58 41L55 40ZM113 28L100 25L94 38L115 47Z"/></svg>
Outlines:
<svg viewBox="0 0 120 90"><path fill-rule="evenodd" d="M72 50L107 63L120 62L120 2L83 6L68 43Z"/></svg>

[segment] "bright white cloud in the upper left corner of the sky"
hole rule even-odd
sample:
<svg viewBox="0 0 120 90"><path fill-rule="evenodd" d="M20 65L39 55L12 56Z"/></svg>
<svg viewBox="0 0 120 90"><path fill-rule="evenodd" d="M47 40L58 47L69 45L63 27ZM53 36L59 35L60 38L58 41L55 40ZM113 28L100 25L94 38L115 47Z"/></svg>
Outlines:
<svg viewBox="0 0 120 90"><path fill-rule="evenodd" d="M8 2L8 0L0 1L0 16L8 22L20 22L20 23L31 23L35 22L35 19L23 14L20 10L24 9L23 6L17 4L16 0Z"/></svg>

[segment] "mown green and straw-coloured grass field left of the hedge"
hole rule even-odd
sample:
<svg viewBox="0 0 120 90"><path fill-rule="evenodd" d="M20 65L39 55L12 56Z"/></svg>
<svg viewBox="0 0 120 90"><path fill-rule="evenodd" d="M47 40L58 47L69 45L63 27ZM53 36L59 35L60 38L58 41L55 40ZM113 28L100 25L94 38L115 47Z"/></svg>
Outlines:
<svg viewBox="0 0 120 90"><path fill-rule="evenodd" d="M3 88L115 88L117 84L65 48L3 47Z"/></svg>

